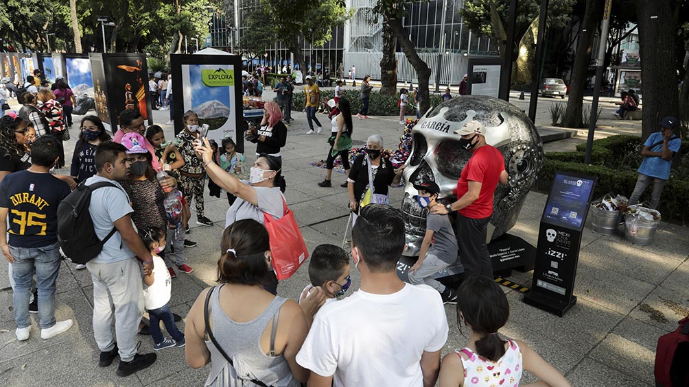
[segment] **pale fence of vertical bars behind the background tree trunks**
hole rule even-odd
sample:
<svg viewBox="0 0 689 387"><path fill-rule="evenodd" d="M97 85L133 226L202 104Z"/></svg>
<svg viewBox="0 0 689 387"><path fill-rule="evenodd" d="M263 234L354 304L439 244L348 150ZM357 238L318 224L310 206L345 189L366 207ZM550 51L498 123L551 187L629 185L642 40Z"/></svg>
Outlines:
<svg viewBox="0 0 689 387"><path fill-rule="evenodd" d="M402 52L396 53L395 56L397 56L397 78L399 82L418 83L416 71L407 60L407 56ZM431 68L429 82L433 85L438 71L438 54L421 52L419 56ZM357 78L363 78L369 74L371 79L380 80L380 58L382 58L381 52L345 52L345 72L354 65L356 66ZM469 55L444 54L440 63L440 84L459 85L468 67Z"/></svg>

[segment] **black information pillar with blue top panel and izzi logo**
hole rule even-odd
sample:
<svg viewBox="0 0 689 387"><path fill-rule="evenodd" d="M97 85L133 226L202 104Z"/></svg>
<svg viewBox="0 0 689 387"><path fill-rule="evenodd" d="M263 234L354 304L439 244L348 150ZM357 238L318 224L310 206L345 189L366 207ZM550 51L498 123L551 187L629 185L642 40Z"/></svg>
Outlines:
<svg viewBox="0 0 689 387"><path fill-rule="evenodd" d="M531 291L524 302L564 316L577 297L573 295L579 247L596 178L556 172L541 217Z"/></svg>

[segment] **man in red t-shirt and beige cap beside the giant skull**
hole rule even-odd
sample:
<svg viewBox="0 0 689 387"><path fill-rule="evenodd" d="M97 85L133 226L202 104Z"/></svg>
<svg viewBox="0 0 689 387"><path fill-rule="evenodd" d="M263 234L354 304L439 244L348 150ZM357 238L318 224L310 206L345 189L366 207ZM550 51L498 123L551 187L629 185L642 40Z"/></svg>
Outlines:
<svg viewBox="0 0 689 387"><path fill-rule="evenodd" d="M507 184L505 159L495 146L486 144L486 129L481 122L467 122L455 134L462 136L460 146L473 155L457 181L457 201L446 206L436 204L432 212L447 214L457 211L455 228L464 273L466 276L478 274L493 279L486 234L493 214L495 188L498 183Z"/></svg>

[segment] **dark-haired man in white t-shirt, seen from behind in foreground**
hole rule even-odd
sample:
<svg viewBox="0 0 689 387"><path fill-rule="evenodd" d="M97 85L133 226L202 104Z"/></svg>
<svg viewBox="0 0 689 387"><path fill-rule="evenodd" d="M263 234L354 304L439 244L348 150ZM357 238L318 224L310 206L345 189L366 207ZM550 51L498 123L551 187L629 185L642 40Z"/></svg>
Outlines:
<svg viewBox="0 0 689 387"><path fill-rule="evenodd" d="M309 386L433 386L447 318L438 291L395 272L404 250L400 210L365 206L351 239L361 287L316 315L296 357L311 370Z"/></svg>

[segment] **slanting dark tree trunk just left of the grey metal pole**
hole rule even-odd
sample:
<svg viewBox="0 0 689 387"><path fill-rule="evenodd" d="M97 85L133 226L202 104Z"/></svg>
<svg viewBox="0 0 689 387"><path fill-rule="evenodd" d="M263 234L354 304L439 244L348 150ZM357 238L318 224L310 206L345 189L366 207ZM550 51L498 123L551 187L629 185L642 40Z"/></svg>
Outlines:
<svg viewBox="0 0 689 387"><path fill-rule="evenodd" d="M639 3L641 2L639 1ZM569 84L569 100L562 117L562 126L566 128L581 128L584 124L582 121L584 89L586 89L588 65L591 60L596 25L603 13L602 5L602 1L586 0L586 11L584 11L584 19L582 19L579 44L577 44L577 52L575 52L574 57L572 80Z"/></svg>

